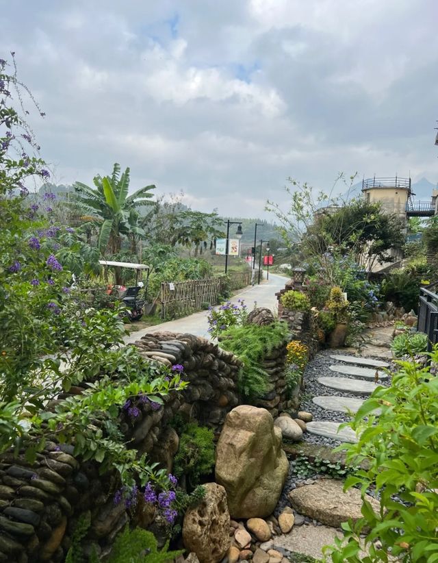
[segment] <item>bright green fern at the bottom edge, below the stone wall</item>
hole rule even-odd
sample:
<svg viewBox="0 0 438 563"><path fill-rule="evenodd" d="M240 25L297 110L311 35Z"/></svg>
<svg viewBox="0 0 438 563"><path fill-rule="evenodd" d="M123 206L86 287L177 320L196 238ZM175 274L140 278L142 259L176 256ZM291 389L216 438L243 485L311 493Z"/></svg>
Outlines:
<svg viewBox="0 0 438 563"><path fill-rule="evenodd" d="M150 531L126 526L114 542L108 563L168 563L183 553L182 550L168 551L168 548L167 541L158 551L157 540Z"/></svg>

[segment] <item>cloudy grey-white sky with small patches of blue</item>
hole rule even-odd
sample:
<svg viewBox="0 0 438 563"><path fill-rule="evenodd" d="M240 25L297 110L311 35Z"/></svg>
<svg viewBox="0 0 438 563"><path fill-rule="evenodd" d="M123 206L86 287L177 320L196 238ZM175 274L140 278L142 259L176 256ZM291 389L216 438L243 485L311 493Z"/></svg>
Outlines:
<svg viewBox="0 0 438 563"><path fill-rule="evenodd" d="M288 176L438 180L436 0L0 0L57 183L261 216Z"/></svg>

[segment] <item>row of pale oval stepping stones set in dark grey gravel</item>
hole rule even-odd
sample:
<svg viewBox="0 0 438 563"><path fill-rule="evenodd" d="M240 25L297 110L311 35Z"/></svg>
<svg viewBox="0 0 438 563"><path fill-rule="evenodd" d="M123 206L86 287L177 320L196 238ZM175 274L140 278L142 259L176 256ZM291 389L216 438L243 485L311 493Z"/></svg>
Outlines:
<svg viewBox="0 0 438 563"><path fill-rule="evenodd" d="M372 358L358 358L350 355L335 354L330 356L337 362L344 364L335 364L330 366L331 371L335 373L344 373L352 377L319 377L318 383L327 388L337 391L344 391L349 395L361 395L366 397L371 395L378 386L374 382L376 370L381 368L389 368L387 362L381 360L373 360ZM350 364L350 365L349 365ZM355 364L355 365L351 365ZM365 367L358 367L365 366ZM386 373L378 371L379 379L388 379ZM364 381L364 379L372 379L372 381ZM313 403L321 408L335 412L357 412L365 399L352 399L352 397L335 397L333 395L321 395L313 397ZM378 414L378 410L375 411ZM307 423L307 431L311 434L331 438L339 442L357 442L357 436L350 428L343 428L339 431L339 425L342 423L333 421L313 421Z"/></svg>

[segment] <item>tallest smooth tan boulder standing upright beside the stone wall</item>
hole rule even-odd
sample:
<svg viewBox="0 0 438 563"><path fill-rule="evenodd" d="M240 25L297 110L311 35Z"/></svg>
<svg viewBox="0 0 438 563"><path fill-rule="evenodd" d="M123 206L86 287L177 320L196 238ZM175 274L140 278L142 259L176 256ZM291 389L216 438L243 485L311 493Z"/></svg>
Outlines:
<svg viewBox="0 0 438 563"><path fill-rule="evenodd" d="M249 405L229 412L216 447L216 481L227 491L231 516L272 514L288 471L281 430L269 412Z"/></svg>

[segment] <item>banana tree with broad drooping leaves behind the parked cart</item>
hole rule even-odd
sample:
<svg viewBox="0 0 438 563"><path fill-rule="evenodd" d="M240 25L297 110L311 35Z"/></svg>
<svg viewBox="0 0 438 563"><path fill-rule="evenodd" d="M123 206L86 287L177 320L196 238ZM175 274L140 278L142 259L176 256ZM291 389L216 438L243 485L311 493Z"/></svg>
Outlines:
<svg viewBox="0 0 438 563"><path fill-rule="evenodd" d="M143 229L138 225L138 209L151 205L151 190L154 185L144 186L128 196L129 168L120 175L120 165L114 164L111 176L96 175L93 179L96 188L76 182L77 204L83 214L94 216L100 221L98 246L101 252L108 249L116 254L122 247L122 236L142 236Z"/></svg>

